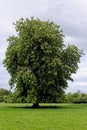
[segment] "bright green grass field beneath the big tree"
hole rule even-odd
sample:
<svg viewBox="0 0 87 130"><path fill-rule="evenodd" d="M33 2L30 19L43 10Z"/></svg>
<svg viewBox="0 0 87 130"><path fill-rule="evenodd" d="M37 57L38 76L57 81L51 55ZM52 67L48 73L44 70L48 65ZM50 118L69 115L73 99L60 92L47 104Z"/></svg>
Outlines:
<svg viewBox="0 0 87 130"><path fill-rule="evenodd" d="M0 130L87 130L87 104L0 104Z"/></svg>

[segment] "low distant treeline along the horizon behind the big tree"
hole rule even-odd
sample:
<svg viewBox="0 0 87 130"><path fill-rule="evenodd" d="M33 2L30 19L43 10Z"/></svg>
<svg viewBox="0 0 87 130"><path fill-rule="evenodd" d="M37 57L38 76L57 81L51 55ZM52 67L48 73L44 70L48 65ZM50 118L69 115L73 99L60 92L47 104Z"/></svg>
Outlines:
<svg viewBox="0 0 87 130"><path fill-rule="evenodd" d="M17 97L15 93L10 90L0 89L0 102L5 103L30 103L27 98L24 100L23 97ZM49 101L48 101L49 102ZM75 93L64 94L61 98L57 100L58 103L87 103L87 93L82 93L77 91Z"/></svg>

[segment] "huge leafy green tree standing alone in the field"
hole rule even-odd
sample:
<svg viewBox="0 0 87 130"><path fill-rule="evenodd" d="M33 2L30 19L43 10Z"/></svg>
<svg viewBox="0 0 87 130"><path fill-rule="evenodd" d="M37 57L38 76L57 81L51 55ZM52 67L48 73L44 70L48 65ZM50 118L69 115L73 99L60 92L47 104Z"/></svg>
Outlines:
<svg viewBox="0 0 87 130"><path fill-rule="evenodd" d="M16 36L8 38L4 66L10 86L33 103L55 102L68 87L82 56L75 45L65 46L60 26L39 19L20 19Z"/></svg>

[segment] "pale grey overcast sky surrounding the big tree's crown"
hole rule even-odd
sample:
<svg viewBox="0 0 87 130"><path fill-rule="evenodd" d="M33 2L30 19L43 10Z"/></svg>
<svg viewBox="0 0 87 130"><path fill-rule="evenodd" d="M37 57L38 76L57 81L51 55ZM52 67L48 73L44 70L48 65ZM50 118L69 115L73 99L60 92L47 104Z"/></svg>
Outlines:
<svg viewBox="0 0 87 130"><path fill-rule="evenodd" d="M87 92L87 0L0 0L0 88L10 89L10 76L2 61L8 46L6 39L15 34L12 23L32 16L61 25L65 44L75 44L84 50L67 92Z"/></svg>

